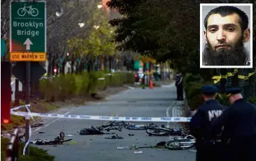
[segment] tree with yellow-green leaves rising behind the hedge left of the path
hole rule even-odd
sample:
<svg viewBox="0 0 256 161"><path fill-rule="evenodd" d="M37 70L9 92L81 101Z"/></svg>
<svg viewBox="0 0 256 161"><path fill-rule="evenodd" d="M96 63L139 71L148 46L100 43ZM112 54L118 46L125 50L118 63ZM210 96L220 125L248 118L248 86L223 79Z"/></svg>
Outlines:
<svg viewBox="0 0 256 161"><path fill-rule="evenodd" d="M108 56L115 54L116 45L113 42L115 27L108 23L108 17L106 15L106 10L95 8L90 19L80 24L81 28L85 27L90 32L73 36L67 41L69 51L71 52L69 59L83 62L83 64L76 63L80 71L83 70L86 63L88 65L87 69L93 70L96 61L102 68L103 61Z"/></svg>

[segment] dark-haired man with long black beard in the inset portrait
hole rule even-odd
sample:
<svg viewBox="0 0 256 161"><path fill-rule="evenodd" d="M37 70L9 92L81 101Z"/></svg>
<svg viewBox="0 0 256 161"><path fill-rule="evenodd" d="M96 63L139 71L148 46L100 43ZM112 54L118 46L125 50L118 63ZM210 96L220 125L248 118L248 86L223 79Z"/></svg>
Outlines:
<svg viewBox="0 0 256 161"><path fill-rule="evenodd" d="M248 16L234 6L220 6L204 19L204 66L250 66L244 43L250 40Z"/></svg>

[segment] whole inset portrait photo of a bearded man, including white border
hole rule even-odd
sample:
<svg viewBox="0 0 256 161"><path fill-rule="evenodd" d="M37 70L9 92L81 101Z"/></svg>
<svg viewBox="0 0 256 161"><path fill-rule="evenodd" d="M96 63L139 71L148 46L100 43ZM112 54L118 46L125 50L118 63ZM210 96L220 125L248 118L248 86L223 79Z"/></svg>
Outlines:
<svg viewBox="0 0 256 161"><path fill-rule="evenodd" d="M200 4L200 68L253 68L253 4Z"/></svg>

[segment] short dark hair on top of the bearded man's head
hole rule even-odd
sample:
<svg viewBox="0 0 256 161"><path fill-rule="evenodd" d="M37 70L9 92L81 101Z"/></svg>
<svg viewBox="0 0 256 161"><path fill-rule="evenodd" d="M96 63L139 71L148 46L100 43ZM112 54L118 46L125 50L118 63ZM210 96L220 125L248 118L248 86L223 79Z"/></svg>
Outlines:
<svg viewBox="0 0 256 161"><path fill-rule="evenodd" d="M220 14L222 17L225 17L227 15L232 15L234 13L239 15L239 24L241 26L242 31L245 31L248 28L249 24L248 16L246 15L246 13L243 12L243 10L240 10L239 8L236 8L234 6L220 6L218 8L214 8L213 10L210 10L210 12L204 18L204 27L207 29L208 18L211 15Z"/></svg>

